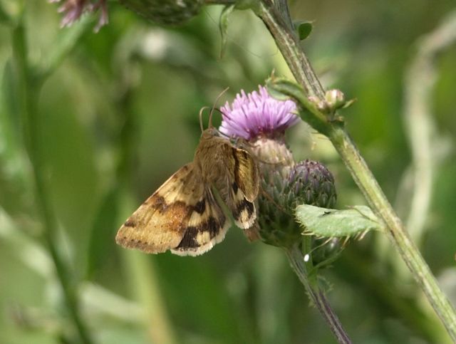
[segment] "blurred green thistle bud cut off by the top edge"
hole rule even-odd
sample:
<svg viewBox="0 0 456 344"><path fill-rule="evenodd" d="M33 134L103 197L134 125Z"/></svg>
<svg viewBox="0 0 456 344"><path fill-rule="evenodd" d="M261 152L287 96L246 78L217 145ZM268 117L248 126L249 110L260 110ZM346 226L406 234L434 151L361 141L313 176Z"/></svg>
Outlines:
<svg viewBox="0 0 456 344"><path fill-rule="evenodd" d="M157 24L182 24L196 16L202 0L120 0L128 9Z"/></svg>

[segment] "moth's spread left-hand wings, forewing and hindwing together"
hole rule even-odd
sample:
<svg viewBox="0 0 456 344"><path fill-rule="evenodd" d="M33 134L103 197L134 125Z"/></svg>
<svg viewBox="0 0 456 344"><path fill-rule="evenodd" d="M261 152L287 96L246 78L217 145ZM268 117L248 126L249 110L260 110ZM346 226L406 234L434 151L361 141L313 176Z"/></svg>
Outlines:
<svg viewBox="0 0 456 344"><path fill-rule="evenodd" d="M115 241L157 254L197 256L224 239L229 223L192 163L175 172L120 227Z"/></svg>

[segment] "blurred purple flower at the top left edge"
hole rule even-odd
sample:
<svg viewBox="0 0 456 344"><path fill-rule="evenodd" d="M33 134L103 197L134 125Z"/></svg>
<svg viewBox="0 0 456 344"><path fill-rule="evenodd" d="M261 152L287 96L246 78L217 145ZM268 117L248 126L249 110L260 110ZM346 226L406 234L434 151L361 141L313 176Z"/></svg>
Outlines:
<svg viewBox="0 0 456 344"><path fill-rule="evenodd" d="M60 2L60 0L50 0L50 2ZM102 26L108 24L108 6L106 0L65 0L58 8L59 13L63 13L61 27L71 26L75 21L81 18L84 12L95 12L100 9L100 19L95 26L95 32Z"/></svg>

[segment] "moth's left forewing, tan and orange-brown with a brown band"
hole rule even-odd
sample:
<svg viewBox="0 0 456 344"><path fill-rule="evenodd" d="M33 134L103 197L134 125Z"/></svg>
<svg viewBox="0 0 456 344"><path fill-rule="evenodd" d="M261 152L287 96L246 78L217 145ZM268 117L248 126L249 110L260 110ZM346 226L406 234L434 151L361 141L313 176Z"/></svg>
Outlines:
<svg viewBox="0 0 456 344"><path fill-rule="evenodd" d="M125 248L150 254L174 249L184 237L192 204L203 193L193 164L181 167L125 221L115 241Z"/></svg>

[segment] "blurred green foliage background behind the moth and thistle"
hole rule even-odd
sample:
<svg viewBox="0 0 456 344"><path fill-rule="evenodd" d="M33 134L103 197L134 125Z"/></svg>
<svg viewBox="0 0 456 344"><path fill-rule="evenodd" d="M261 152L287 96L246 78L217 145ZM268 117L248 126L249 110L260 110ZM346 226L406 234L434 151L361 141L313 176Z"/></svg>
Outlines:
<svg viewBox="0 0 456 344"><path fill-rule="evenodd" d="M47 1L0 4L0 343L77 343L46 244L37 161L58 254L94 343L334 343L281 249L249 244L239 229L197 258L147 256L114 241L143 199L192 160L200 108L224 88L222 102L254 90L273 69L290 75L261 21L235 11L220 58L220 6L163 28L110 1L110 23L93 33L91 16L60 29L58 6ZM405 75L420 37L456 10L455 1L296 0L290 8L294 19L314 21L304 48L326 88L357 98L343 113L348 130L408 219L423 185L413 184L405 95L421 83L405 83ZM434 87L418 97L430 110L423 168L431 172L429 207L414 234L453 304L455 61L449 44L425 78L435 78ZM330 168L338 207L364 203L326 138L301 123L289 142L296 160ZM449 342L380 234L351 241L322 275L354 343Z"/></svg>

